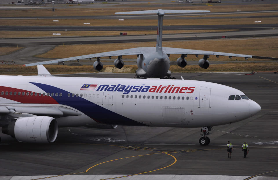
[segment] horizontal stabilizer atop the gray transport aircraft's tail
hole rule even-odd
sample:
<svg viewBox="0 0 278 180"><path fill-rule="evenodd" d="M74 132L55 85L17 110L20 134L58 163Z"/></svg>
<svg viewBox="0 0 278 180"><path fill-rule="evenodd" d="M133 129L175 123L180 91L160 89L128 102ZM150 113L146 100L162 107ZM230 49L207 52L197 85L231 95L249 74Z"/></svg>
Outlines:
<svg viewBox="0 0 278 180"><path fill-rule="evenodd" d="M168 14L168 13L200 13L200 12L211 12L203 10L146 10L146 11L129 11L129 12L115 12L115 14Z"/></svg>

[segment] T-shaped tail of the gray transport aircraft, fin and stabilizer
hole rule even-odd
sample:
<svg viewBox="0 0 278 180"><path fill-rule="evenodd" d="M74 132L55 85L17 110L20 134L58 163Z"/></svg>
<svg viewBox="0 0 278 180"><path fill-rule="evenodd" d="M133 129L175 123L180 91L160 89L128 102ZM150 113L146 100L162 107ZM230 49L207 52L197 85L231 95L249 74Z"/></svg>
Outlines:
<svg viewBox="0 0 278 180"><path fill-rule="evenodd" d="M156 36L156 52L158 48L162 47L162 21L164 14L167 13L195 13L195 12L210 12L202 10L147 10L147 11L130 11L130 12L115 12L115 14L157 14L158 24L157 24L157 36Z"/></svg>

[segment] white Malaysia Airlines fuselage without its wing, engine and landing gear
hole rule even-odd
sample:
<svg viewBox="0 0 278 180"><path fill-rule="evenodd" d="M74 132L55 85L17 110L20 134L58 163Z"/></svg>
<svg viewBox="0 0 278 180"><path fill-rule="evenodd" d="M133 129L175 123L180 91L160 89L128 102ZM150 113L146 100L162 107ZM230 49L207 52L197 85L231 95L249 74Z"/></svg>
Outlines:
<svg viewBox="0 0 278 180"><path fill-rule="evenodd" d="M98 123L204 127L237 122L261 109L250 99L228 100L231 95L244 95L242 91L196 80L0 78L0 106L63 106L82 114L56 118L59 127Z"/></svg>

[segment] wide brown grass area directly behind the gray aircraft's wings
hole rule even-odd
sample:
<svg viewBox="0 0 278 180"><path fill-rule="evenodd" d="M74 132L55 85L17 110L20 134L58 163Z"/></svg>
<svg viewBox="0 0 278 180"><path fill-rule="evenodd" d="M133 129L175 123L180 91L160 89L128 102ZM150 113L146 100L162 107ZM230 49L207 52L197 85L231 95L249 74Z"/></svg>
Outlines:
<svg viewBox="0 0 278 180"><path fill-rule="evenodd" d="M136 48L136 47L154 47L156 42L136 42L136 43L109 43L109 44L83 44L83 45L59 45L54 49L36 57L60 59L88 55L106 51ZM230 52L237 54L246 54L254 56L278 57L278 37L264 38L242 38L242 39L217 39L217 40L194 40L194 41L163 41L162 46L173 48L188 48L198 50L208 50L217 52ZM66 53L65 53L66 52ZM175 61L180 55L170 55L170 60ZM136 59L135 55L124 56L124 59ZM195 55L188 55L186 59L196 60ZM233 57L229 59L225 56L216 58L211 56L209 60L214 61L235 61L244 60L244 58ZM249 59L256 60L256 59ZM261 59L260 59L261 60Z"/></svg>

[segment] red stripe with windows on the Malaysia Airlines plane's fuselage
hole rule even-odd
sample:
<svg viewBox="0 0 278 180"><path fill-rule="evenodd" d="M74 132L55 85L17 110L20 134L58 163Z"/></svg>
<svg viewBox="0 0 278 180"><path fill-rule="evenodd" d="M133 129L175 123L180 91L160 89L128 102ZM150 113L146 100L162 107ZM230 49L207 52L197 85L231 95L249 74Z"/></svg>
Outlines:
<svg viewBox="0 0 278 180"><path fill-rule="evenodd" d="M2 95L2 91L4 94ZM6 92L8 92L8 95L6 95ZM12 95L10 95L10 92L12 92ZM14 92L17 92L17 95L14 95ZM18 92L20 92L20 95L18 95ZM22 93L25 93L22 95ZM29 93L29 95L26 95L26 93ZM31 96L30 93L33 93ZM17 88L12 88L12 87L5 87L5 86L0 86L0 97L1 98L6 98L9 100L21 102L21 103L26 103L26 104L59 104L56 100L54 100L51 96L39 95L39 93L35 96L35 92L32 91L26 91L23 89L17 89Z"/></svg>

